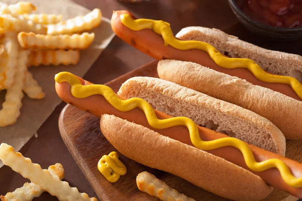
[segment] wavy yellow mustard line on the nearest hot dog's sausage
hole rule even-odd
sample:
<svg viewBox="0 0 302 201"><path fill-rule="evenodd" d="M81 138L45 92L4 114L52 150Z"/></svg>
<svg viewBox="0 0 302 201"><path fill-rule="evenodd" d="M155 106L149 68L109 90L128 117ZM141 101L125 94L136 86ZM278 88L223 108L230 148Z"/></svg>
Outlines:
<svg viewBox="0 0 302 201"><path fill-rule="evenodd" d="M130 99L120 99L109 87L101 84L82 85L80 79L69 73L60 72L55 75L55 81L68 82L71 86L70 92L74 97L85 98L91 95L102 95L116 110L128 112L135 108L142 110L150 126L155 129L166 129L173 126L185 126L189 130L192 144L201 150L212 150L220 147L232 146L239 149L245 159L247 166L253 171L264 171L270 168L277 168L280 171L283 180L293 187L302 186L302 177L295 178L288 166L279 159L268 159L257 162L250 147L243 141L236 138L221 138L212 141L202 141L199 137L198 127L193 120L187 117L174 117L160 120L157 118L152 106L142 98L133 97Z"/></svg>

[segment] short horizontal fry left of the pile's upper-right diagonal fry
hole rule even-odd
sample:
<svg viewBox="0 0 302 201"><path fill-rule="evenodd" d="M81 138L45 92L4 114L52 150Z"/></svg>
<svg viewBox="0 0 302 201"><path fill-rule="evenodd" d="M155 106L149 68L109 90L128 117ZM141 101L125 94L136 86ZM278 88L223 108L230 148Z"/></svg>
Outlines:
<svg viewBox="0 0 302 201"><path fill-rule="evenodd" d="M31 20L37 24L56 24L62 20L62 15L48 15L48 14L24 14L25 19Z"/></svg>

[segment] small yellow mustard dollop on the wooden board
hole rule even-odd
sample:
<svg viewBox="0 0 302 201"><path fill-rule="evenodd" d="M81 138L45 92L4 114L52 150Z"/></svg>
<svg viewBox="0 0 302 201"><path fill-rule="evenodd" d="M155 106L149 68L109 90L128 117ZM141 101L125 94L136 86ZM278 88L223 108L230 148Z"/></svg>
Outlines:
<svg viewBox="0 0 302 201"><path fill-rule="evenodd" d="M127 172L126 166L118 159L115 151L104 155L98 162L99 171L110 182L116 182L121 175Z"/></svg>

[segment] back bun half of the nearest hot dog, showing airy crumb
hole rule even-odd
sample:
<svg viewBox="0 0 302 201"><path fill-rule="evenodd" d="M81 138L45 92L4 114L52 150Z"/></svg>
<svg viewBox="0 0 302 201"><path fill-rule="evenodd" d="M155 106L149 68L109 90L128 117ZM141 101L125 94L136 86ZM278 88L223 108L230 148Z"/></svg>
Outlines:
<svg viewBox="0 0 302 201"><path fill-rule="evenodd" d="M176 83L153 77L132 77L118 95L140 97L154 109L226 133L262 149L285 155L285 138L267 119L249 110Z"/></svg>

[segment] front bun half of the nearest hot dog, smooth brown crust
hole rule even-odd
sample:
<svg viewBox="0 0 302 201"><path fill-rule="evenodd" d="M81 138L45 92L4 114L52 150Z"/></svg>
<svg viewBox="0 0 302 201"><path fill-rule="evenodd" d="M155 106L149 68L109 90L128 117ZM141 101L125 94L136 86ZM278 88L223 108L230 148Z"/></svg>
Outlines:
<svg viewBox="0 0 302 201"><path fill-rule="evenodd" d="M107 140L126 157L180 176L219 196L261 200L272 190L252 172L144 126L103 115L100 127Z"/></svg>

